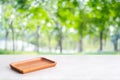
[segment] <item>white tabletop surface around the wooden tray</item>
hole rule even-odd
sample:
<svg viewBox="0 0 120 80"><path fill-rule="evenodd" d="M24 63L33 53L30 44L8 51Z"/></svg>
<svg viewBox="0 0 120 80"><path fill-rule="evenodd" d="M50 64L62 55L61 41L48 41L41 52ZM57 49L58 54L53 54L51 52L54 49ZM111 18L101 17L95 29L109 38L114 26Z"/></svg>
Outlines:
<svg viewBox="0 0 120 80"><path fill-rule="evenodd" d="M36 57L54 60L57 65L27 74L9 67L12 62ZM120 56L0 55L0 80L120 80Z"/></svg>

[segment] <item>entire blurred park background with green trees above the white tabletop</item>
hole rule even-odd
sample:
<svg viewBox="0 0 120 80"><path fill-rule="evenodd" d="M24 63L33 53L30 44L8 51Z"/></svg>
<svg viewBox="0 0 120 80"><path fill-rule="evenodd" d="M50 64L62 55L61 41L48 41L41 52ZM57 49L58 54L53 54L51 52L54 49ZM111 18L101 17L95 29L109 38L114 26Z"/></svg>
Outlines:
<svg viewBox="0 0 120 80"><path fill-rule="evenodd" d="M0 0L0 54L119 54L120 0Z"/></svg>

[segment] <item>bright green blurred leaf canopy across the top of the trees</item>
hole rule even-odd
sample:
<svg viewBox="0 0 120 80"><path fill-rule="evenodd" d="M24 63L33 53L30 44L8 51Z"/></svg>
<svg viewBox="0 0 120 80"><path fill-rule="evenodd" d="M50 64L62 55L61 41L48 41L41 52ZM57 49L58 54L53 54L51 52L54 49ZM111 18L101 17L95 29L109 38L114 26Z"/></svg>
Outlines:
<svg viewBox="0 0 120 80"><path fill-rule="evenodd" d="M21 35L22 39L24 33L33 43L37 26L41 38L44 35L48 42L52 39L56 43L67 37L74 42L80 36L98 38L100 32L105 40L110 38L110 26L114 27L114 33L120 28L117 0L0 0L0 5L4 29L9 31L12 22L16 38Z"/></svg>

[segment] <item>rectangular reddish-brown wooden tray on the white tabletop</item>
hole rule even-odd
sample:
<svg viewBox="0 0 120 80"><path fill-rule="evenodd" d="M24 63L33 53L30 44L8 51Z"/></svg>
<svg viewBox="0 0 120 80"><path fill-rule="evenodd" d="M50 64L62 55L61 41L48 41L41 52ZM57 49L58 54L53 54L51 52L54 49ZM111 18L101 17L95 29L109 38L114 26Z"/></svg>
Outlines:
<svg viewBox="0 0 120 80"><path fill-rule="evenodd" d="M32 71L53 67L55 65L56 65L55 61L52 61L43 57L39 57L39 58L11 63L10 67L15 71L24 74Z"/></svg>

